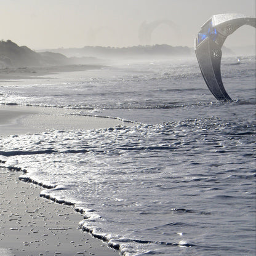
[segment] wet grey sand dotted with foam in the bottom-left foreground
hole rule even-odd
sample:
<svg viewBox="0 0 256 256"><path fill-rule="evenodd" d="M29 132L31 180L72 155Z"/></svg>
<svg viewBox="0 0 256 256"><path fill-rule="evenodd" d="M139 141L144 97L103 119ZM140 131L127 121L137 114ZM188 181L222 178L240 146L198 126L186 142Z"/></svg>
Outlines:
<svg viewBox="0 0 256 256"><path fill-rule="evenodd" d="M0 254L118 255L102 241L78 230L82 215L73 207L39 197L42 190L0 168Z"/></svg>

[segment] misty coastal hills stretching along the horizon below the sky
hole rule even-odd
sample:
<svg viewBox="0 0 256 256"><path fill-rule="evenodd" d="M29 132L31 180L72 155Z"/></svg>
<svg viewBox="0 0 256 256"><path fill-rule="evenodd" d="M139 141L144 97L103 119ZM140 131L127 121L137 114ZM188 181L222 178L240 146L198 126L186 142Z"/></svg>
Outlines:
<svg viewBox="0 0 256 256"><path fill-rule="evenodd" d="M98 58L143 58L180 55L191 55L191 49L189 47L173 47L162 44L122 48L85 46L81 49L54 49L35 52L26 46L18 46L10 40L0 41L0 68L92 65L102 64L103 60Z"/></svg>

